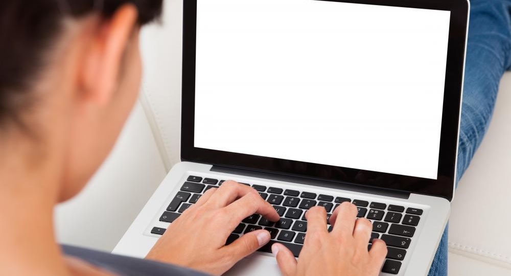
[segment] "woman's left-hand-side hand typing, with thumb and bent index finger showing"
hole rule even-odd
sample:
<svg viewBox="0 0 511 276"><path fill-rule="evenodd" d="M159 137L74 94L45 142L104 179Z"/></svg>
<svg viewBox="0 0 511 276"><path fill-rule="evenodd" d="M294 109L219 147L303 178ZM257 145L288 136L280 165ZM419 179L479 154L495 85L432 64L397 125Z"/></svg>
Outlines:
<svg viewBox="0 0 511 276"><path fill-rule="evenodd" d="M270 233L247 233L225 246L227 237L246 217L258 213L268 220L280 217L257 191L235 181L210 189L165 232L147 259L220 275L268 243Z"/></svg>

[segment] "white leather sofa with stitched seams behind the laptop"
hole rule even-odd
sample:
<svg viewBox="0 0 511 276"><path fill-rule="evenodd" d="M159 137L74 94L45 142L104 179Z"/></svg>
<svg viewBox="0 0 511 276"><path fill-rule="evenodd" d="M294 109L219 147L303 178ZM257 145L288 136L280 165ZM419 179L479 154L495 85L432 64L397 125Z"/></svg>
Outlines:
<svg viewBox="0 0 511 276"><path fill-rule="evenodd" d="M140 100L114 151L85 191L56 209L60 242L110 251L179 161L182 0L166 2L164 25L143 32ZM452 205L451 275L510 275L511 73L494 120Z"/></svg>

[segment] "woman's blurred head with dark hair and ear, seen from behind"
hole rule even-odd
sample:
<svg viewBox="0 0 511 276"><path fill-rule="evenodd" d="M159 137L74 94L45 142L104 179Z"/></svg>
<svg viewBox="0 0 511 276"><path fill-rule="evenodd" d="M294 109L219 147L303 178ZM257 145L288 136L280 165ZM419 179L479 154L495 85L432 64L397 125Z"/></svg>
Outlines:
<svg viewBox="0 0 511 276"><path fill-rule="evenodd" d="M140 86L140 26L161 8L162 0L0 1L0 141L33 141L30 166L60 163L61 199L81 190L117 139Z"/></svg>

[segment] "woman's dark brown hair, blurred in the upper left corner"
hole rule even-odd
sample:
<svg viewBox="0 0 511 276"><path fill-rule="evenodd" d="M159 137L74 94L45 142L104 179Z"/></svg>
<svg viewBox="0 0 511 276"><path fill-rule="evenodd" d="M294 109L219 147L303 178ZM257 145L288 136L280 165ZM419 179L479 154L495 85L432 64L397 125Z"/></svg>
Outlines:
<svg viewBox="0 0 511 276"><path fill-rule="evenodd" d="M109 18L124 4L138 9L140 25L162 9L162 0L0 0L0 127L7 120L21 123L19 114L31 103L27 94L65 18L91 13Z"/></svg>

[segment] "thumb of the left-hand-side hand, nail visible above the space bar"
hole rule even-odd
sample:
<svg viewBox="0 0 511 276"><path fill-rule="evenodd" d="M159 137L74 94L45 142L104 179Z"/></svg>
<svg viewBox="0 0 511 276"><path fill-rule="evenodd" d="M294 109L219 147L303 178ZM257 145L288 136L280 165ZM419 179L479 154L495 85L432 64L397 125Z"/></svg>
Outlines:
<svg viewBox="0 0 511 276"><path fill-rule="evenodd" d="M241 236L233 243L224 247L226 254L233 258L237 263L239 260L255 252L261 246L270 241L270 232L266 230L257 230Z"/></svg>

